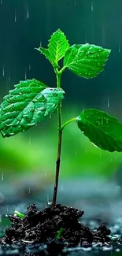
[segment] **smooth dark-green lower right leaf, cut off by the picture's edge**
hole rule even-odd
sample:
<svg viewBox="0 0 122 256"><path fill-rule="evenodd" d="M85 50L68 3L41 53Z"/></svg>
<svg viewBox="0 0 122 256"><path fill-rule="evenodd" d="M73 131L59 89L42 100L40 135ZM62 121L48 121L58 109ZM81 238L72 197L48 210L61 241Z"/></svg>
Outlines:
<svg viewBox="0 0 122 256"><path fill-rule="evenodd" d="M85 109L76 123L97 147L109 152L122 151L122 124L115 117L98 109Z"/></svg>

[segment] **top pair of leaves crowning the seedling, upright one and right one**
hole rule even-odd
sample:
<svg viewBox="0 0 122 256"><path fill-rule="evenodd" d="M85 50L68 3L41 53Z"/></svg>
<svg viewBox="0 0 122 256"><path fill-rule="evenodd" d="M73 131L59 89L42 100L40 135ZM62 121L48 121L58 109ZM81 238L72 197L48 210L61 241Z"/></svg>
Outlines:
<svg viewBox="0 0 122 256"><path fill-rule="evenodd" d="M54 69L59 68L58 61L64 58L63 68L84 78L93 78L103 71L111 50L103 49L89 43L70 46L66 36L60 29L54 32L48 48L39 47L37 50L50 61Z"/></svg>

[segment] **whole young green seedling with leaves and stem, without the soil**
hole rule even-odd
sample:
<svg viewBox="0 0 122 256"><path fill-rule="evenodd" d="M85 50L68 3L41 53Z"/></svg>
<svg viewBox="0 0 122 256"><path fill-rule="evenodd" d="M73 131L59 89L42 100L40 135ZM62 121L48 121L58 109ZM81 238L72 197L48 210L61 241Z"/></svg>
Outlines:
<svg viewBox="0 0 122 256"><path fill-rule="evenodd" d="M78 117L66 121L65 124L61 122L61 101L65 94L61 88L62 73L65 69L69 69L77 76L94 78L103 71L111 50L88 43L70 46L60 29L51 35L47 49L39 47L37 50L53 66L57 86L50 88L35 79L20 81L15 85L15 88L9 91L9 95L3 98L4 101L0 106L0 132L3 137L25 132L57 109L58 144L52 204L54 208L57 200L62 132L65 126L76 121L80 131L90 139L91 143L102 150L120 152L122 151L122 124L115 117L98 109L84 109ZM64 58L63 66L60 67L59 61L62 58Z"/></svg>

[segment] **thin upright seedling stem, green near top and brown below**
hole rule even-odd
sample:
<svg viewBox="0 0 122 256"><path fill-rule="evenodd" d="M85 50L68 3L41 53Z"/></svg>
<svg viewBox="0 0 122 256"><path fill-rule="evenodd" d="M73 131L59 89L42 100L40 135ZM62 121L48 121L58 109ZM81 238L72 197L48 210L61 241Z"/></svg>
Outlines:
<svg viewBox="0 0 122 256"><path fill-rule="evenodd" d="M60 88L62 72L59 72L57 69L55 69L55 73L57 76L57 88ZM62 142L61 104L57 108L57 125L58 125L58 146L57 146L57 161L56 161L56 173L55 173L52 209L54 209L54 207L56 206L56 202L57 202L57 187L58 187L58 179L59 179L59 171L60 171L60 163L61 163L61 142Z"/></svg>

